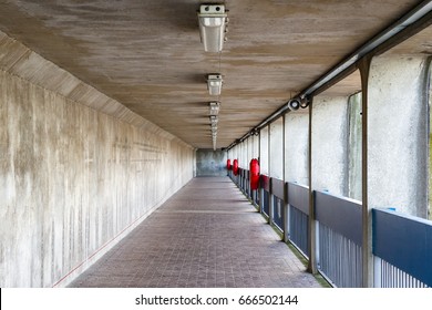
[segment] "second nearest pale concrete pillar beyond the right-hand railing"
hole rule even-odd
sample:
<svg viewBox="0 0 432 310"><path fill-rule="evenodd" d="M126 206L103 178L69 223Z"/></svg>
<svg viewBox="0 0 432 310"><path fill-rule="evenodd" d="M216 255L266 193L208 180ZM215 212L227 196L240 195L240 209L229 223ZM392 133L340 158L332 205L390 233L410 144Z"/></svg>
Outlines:
<svg viewBox="0 0 432 310"><path fill-rule="evenodd" d="M317 96L312 108L312 188L347 196L348 99Z"/></svg>

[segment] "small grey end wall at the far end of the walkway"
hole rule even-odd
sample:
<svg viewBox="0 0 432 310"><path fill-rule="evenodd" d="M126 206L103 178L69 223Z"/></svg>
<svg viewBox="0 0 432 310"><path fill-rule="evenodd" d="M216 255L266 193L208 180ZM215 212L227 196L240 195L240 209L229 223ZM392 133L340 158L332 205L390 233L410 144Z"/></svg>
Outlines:
<svg viewBox="0 0 432 310"><path fill-rule="evenodd" d="M226 176L226 159L224 151L196 151L196 176Z"/></svg>

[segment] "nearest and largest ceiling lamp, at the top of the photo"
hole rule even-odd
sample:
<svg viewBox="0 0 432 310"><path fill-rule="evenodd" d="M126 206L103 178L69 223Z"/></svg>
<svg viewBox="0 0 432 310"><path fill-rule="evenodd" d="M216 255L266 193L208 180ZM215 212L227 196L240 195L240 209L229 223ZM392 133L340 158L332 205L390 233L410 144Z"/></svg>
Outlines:
<svg viewBox="0 0 432 310"><path fill-rule="evenodd" d="M224 4L202 4L198 12L204 51L218 53L224 48L227 14Z"/></svg>

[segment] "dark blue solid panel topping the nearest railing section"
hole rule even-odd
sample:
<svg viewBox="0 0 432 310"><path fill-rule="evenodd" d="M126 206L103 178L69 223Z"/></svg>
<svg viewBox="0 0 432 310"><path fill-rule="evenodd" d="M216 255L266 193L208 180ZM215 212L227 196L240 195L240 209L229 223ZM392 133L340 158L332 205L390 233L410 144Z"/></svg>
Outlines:
<svg viewBox="0 0 432 310"><path fill-rule="evenodd" d="M372 209L373 255L432 287L432 221Z"/></svg>

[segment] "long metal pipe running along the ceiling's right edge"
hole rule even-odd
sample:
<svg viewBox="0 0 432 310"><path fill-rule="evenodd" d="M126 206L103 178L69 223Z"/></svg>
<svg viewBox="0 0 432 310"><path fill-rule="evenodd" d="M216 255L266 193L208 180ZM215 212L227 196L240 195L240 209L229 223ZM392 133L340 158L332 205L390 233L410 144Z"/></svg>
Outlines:
<svg viewBox="0 0 432 310"><path fill-rule="evenodd" d="M409 11L393 24L378 33L371 40L366 42L347 59L341 61L335 68L330 69L316 82L310 84L304 91L301 91L297 97L311 97L315 96L330 86L335 85L343 78L348 76L357 70L357 62L366 55L377 55L390 50L408 38L420 32L432 23L432 1L422 1L414 9ZM271 123L275 118L281 116L289 111L288 103L285 103L277 111L270 114L261 123L255 126L250 132L246 133L241 138L233 142L226 149L230 149L237 143L243 142L249 137L254 132L260 131L267 124Z"/></svg>

